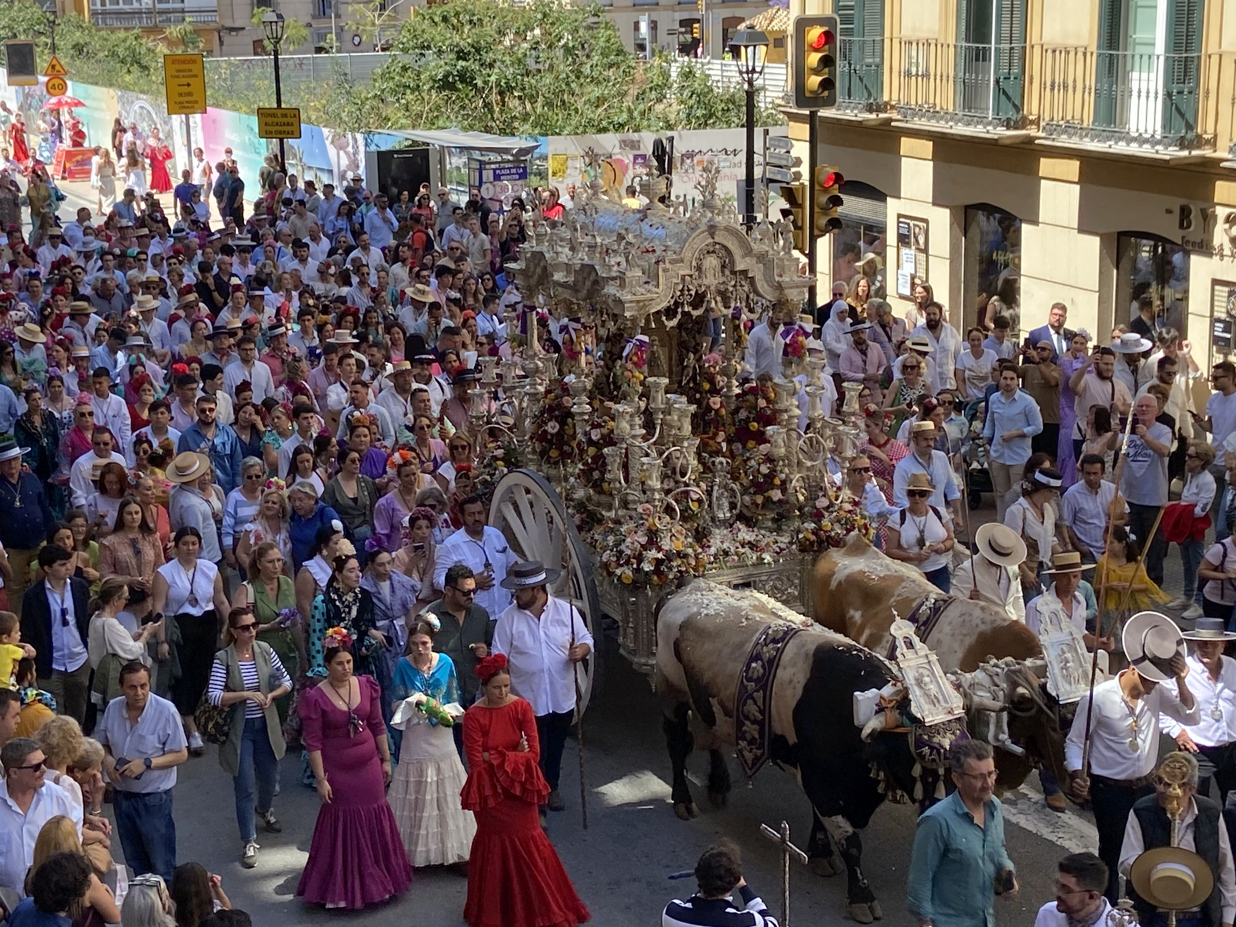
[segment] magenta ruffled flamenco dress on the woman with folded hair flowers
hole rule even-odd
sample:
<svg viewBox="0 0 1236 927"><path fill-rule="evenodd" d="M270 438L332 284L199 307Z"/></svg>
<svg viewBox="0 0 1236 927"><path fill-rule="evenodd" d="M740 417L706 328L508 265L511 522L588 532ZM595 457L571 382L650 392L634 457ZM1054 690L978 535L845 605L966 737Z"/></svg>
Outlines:
<svg viewBox="0 0 1236 927"><path fill-rule="evenodd" d="M302 738L307 750L321 750L332 798L318 811L297 895L328 907L361 908L398 895L412 883L375 744L375 737L386 733L381 692L370 676L356 681L360 700L352 714L361 727L355 733L349 713L318 686L300 697Z"/></svg>

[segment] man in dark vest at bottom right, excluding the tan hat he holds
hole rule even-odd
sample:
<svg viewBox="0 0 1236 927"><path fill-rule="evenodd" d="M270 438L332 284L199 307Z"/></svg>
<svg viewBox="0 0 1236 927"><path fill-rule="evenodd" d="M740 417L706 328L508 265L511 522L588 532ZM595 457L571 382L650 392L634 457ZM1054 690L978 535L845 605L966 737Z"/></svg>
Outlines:
<svg viewBox="0 0 1236 927"><path fill-rule="evenodd" d="M1182 777L1179 795L1172 796L1172 780L1179 782ZM1175 827L1166 811L1173 797L1180 801ZM1148 891L1149 886L1137 884L1138 879L1131 870L1143 853L1166 847L1196 853L1214 874L1209 895L1193 897L1182 905L1185 910L1198 908L1196 916L1182 912L1179 922L1198 927L1231 927L1236 920L1236 868L1232 865L1231 840L1219 806L1198 795L1198 761L1188 753L1170 753L1163 759L1154 777L1154 794L1133 805L1125 826L1120 871L1128 878L1126 894L1133 900L1138 923L1145 927L1166 927L1169 921L1162 904L1138 894L1138 889Z"/></svg>

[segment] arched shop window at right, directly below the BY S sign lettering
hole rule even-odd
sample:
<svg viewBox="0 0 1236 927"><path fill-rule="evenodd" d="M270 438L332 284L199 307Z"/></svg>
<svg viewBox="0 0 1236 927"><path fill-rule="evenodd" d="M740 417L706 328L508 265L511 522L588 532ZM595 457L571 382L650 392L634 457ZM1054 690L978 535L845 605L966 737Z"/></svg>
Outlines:
<svg viewBox="0 0 1236 927"><path fill-rule="evenodd" d="M1147 320L1148 326L1172 328L1188 337L1189 252L1158 235L1121 232L1116 262L1116 324L1130 325L1140 315L1142 298L1149 297L1154 320Z"/></svg>

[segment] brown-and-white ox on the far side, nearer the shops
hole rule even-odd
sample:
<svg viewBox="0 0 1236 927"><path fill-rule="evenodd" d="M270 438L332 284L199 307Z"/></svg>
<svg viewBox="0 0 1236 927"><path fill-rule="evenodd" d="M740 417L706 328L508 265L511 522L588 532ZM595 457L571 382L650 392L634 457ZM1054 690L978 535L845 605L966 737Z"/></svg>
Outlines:
<svg viewBox="0 0 1236 927"><path fill-rule="evenodd" d="M890 625L908 619L928 596L942 593L920 570L899 562L854 535L843 548L824 551L811 577L815 618L826 628L852 638L884 656L890 655ZM1002 709L1012 747L996 750L997 786L1016 789L1036 765L1068 781L1064 769L1064 738L1073 706L1059 706L1042 681L1025 666L1041 660L1038 638L1023 623L1010 619L985 602L955 596L939 613L923 643L936 651L946 672L974 672L988 658L1021 661L1000 670L1004 682ZM1007 661L1006 661L1007 662ZM981 735L984 726L971 718L970 730ZM1017 750L1025 751L1018 755Z"/></svg>

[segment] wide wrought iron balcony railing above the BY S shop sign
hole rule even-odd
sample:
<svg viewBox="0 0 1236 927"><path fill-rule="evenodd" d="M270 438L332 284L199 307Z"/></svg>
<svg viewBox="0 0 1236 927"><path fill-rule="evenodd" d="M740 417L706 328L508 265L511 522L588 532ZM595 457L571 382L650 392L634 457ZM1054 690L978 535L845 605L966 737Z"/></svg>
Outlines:
<svg viewBox="0 0 1236 927"><path fill-rule="evenodd" d="M1151 151L1215 147L1220 56L1037 47L1033 57L1046 136Z"/></svg>

